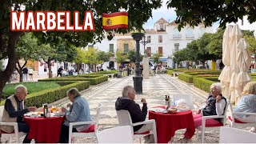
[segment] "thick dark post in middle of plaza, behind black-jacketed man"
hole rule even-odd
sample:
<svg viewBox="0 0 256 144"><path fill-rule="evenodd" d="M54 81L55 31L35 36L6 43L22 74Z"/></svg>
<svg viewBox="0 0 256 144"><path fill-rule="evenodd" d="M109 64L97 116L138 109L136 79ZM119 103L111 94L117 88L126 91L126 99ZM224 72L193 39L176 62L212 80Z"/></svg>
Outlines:
<svg viewBox="0 0 256 144"><path fill-rule="evenodd" d="M139 41L142 40L144 36L143 33L133 33L131 36L136 41L136 62L135 62L135 76L134 76L134 90L136 94L142 94L142 75L141 70L139 68L140 60L139 60Z"/></svg>

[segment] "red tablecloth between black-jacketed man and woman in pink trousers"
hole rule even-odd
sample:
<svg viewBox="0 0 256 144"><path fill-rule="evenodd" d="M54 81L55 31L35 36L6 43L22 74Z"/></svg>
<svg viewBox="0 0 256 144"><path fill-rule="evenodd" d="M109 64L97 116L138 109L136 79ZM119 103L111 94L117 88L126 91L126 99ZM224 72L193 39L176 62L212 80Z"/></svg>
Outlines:
<svg viewBox="0 0 256 144"><path fill-rule="evenodd" d="M187 130L190 138L194 135L194 120L192 111L178 112L176 114L162 114L149 111L149 119L154 119L158 132L158 143L167 143L179 129Z"/></svg>

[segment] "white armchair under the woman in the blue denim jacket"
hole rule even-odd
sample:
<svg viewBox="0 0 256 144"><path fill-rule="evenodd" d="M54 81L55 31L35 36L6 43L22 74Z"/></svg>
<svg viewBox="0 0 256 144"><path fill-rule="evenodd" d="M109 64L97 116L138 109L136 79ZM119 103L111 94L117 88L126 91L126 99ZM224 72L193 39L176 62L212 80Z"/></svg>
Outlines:
<svg viewBox="0 0 256 144"><path fill-rule="evenodd" d="M98 119L100 116L100 113L102 111L102 103L98 104L97 108L97 114L96 118L94 121L91 122L70 122L70 135L69 135L69 143L74 142L74 138L85 138L85 137L90 137L90 138L96 138L96 134L98 133ZM90 128L85 131L81 132L73 132L73 126L78 126L78 125L85 125L85 124L90 124Z"/></svg>

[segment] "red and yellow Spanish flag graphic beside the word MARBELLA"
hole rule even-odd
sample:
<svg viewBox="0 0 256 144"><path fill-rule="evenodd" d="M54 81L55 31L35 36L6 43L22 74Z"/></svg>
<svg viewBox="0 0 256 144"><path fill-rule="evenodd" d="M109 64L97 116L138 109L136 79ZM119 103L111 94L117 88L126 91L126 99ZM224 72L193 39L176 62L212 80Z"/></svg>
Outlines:
<svg viewBox="0 0 256 144"><path fill-rule="evenodd" d="M102 28L112 30L118 28L128 28L128 13L117 12L112 14L102 14Z"/></svg>

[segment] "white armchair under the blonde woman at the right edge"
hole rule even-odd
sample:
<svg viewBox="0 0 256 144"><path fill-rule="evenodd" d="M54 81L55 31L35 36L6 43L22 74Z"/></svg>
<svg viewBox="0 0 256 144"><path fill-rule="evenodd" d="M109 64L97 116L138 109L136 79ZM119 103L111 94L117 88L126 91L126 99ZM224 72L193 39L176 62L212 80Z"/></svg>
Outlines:
<svg viewBox="0 0 256 144"><path fill-rule="evenodd" d="M252 127L256 126L256 122L240 122L237 119L234 118L234 115L250 115L250 116L256 116L256 113L243 113L243 112L233 112L233 108L230 105L230 112L231 115L228 117L229 123L231 127Z"/></svg>

